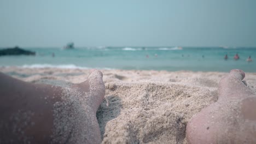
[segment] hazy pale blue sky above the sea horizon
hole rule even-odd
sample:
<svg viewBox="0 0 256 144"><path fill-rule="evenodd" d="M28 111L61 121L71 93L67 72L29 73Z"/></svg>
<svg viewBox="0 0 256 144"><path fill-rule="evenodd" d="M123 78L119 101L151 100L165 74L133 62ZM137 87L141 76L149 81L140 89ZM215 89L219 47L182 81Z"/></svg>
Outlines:
<svg viewBox="0 0 256 144"><path fill-rule="evenodd" d="M0 47L256 46L255 0L0 0Z"/></svg>

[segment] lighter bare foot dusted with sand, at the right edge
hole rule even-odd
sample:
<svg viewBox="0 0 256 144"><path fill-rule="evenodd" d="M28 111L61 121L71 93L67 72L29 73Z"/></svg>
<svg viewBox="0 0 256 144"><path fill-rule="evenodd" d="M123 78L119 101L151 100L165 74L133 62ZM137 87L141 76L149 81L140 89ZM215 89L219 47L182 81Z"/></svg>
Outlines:
<svg viewBox="0 0 256 144"><path fill-rule="evenodd" d="M231 70L219 83L219 99L187 125L188 143L256 143L256 95Z"/></svg>

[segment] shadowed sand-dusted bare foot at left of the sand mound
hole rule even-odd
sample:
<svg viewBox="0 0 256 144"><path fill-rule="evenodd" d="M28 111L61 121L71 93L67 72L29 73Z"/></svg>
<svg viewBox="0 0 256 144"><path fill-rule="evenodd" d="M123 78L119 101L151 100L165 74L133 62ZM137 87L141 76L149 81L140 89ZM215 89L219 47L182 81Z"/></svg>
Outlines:
<svg viewBox="0 0 256 144"><path fill-rule="evenodd" d="M101 71L69 88L0 73L0 143L100 143L96 111L105 94Z"/></svg>

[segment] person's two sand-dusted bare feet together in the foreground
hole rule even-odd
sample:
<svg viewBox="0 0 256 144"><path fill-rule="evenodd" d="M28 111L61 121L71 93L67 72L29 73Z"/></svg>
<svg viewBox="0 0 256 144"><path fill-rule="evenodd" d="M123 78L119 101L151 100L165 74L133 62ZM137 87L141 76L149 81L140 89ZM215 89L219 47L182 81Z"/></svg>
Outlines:
<svg viewBox="0 0 256 144"><path fill-rule="evenodd" d="M105 86L101 71L68 88L24 82L0 73L1 143L101 143L96 111ZM256 95L231 70L219 99L187 124L188 143L256 143Z"/></svg>

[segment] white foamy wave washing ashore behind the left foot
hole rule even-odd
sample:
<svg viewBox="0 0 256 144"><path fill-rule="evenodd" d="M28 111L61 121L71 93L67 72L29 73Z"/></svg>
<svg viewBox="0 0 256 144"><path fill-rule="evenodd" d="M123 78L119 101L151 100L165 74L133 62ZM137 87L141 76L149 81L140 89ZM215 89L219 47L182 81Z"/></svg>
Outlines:
<svg viewBox="0 0 256 144"><path fill-rule="evenodd" d="M60 64L60 65L52 65L52 64L24 64L20 66L21 68L61 68L61 69L112 69L112 68L90 68L90 67L79 67L74 64Z"/></svg>

